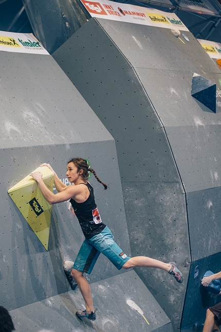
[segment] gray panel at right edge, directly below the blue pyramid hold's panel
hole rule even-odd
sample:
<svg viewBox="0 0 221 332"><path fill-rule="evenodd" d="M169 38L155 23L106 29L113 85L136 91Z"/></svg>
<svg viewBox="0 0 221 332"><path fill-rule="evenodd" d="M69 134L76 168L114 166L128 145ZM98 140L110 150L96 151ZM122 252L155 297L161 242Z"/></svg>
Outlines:
<svg viewBox="0 0 221 332"><path fill-rule="evenodd" d="M219 124L165 128L187 193L221 185Z"/></svg>

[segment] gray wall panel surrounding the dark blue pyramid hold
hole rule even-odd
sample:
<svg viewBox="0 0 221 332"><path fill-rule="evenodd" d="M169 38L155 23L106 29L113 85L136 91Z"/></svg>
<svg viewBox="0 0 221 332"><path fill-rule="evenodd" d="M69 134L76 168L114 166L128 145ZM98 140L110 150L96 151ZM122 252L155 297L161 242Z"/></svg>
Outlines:
<svg viewBox="0 0 221 332"><path fill-rule="evenodd" d="M205 68L206 71L207 68ZM217 85L216 113L191 96L192 71L156 71L137 68L145 91L150 96L164 127L185 127L217 124L221 120L220 74L204 73L204 77ZM196 72L198 74L198 72ZM154 84L153 84L154 82Z"/></svg>

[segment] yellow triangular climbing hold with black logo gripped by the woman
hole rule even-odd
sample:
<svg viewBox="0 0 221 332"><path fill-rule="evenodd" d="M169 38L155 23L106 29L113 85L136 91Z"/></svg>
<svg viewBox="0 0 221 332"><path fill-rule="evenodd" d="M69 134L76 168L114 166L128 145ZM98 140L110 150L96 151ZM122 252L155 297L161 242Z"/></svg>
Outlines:
<svg viewBox="0 0 221 332"><path fill-rule="evenodd" d="M47 166L38 167L34 170L34 172L36 171L43 174L42 179L52 192L53 172ZM8 194L45 249L48 250L51 205L43 197L38 183L28 175L10 188Z"/></svg>

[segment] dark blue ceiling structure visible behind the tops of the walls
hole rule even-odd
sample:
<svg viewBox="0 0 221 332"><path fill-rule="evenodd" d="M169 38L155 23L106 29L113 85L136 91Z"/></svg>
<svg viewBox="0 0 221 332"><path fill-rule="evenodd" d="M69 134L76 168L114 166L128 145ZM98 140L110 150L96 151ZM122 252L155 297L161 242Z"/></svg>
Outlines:
<svg viewBox="0 0 221 332"><path fill-rule="evenodd" d="M184 0L186 3L189 0ZM207 1L215 8L215 13L183 8L182 0L120 0L118 2L156 8L174 12L193 33L195 38L221 43L221 0L191 0L195 3ZM62 3L62 0L60 0ZM200 13L201 11L201 13ZM0 0L0 30L33 33L22 0Z"/></svg>

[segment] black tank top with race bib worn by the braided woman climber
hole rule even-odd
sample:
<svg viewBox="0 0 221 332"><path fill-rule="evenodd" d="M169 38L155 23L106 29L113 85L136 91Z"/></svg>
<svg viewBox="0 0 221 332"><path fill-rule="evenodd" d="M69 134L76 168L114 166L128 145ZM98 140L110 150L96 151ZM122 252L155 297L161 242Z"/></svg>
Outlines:
<svg viewBox="0 0 221 332"><path fill-rule="evenodd" d="M75 211L76 217L80 223L81 229L85 238L93 237L99 234L105 228L105 224L102 222L101 217L98 212L97 205L95 203L94 189L87 182L82 183L87 186L90 195L88 199L83 203L77 203L74 199L70 199L70 203Z"/></svg>

